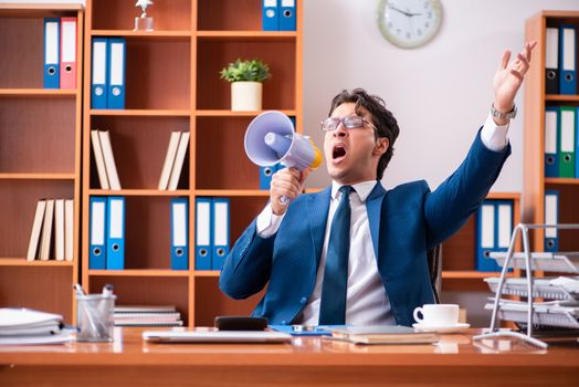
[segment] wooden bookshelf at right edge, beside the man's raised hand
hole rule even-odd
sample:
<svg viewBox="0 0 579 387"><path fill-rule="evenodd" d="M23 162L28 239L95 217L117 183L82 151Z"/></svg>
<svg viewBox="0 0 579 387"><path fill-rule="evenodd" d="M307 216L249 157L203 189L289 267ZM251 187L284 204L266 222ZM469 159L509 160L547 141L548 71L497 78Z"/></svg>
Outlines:
<svg viewBox="0 0 579 387"><path fill-rule="evenodd" d="M546 29L562 23L579 28L579 11L543 11L527 20L526 40L538 42L525 80L525 137L523 220L527 223L545 223L545 190L559 190L559 223L578 223L579 179L545 177L545 107L578 106L579 95L554 95L545 93ZM544 232L531 233L531 249L544 251ZM559 231L560 251L579 251L577 231Z"/></svg>

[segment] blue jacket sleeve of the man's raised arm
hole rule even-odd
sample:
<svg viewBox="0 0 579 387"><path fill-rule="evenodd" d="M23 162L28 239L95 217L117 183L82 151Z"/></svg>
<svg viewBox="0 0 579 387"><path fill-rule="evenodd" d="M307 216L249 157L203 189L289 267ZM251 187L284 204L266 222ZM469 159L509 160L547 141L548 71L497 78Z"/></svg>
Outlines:
<svg viewBox="0 0 579 387"><path fill-rule="evenodd" d="M466 158L434 191L427 192L424 217L429 249L456 232L478 208L495 182L510 144L503 150L488 149L478 130Z"/></svg>

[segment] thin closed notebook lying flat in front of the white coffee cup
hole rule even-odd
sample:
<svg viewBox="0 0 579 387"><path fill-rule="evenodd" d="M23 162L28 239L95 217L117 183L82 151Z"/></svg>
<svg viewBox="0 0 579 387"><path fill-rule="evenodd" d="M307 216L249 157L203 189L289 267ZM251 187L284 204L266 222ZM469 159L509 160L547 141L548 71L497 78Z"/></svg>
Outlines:
<svg viewBox="0 0 579 387"><path fill-rule="evenodd" d="M331 330L331 338L355 344L431 344L435 333L417 332L408 326L345 326Z"/></svg>

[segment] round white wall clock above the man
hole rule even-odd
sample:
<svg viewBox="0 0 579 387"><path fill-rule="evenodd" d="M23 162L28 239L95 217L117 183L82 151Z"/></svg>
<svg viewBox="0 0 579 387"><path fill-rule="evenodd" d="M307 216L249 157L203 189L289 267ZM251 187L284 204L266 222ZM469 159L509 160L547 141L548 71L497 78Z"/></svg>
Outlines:
<svg viewBox="0 0 579 387"><path fill-rule="evenodd" d="M392 44L412 49L430 41L440 29L440 0L380 0L378 28Z"/></svg>

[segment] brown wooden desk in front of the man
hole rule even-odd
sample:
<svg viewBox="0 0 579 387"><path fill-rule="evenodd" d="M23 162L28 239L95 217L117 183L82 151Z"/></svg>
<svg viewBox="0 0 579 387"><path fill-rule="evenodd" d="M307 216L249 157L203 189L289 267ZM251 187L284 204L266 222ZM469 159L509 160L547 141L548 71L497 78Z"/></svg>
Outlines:
<svg viewBox="0 0 579 387"><path fill-rule="evenodd" d="M126 330L112 344L0 347L0 386L579 386L576 338L544 351L506 339L487 347L475 333L439 345L200 345L148 344Z"/></svg>

